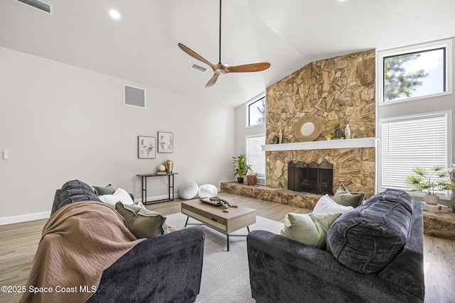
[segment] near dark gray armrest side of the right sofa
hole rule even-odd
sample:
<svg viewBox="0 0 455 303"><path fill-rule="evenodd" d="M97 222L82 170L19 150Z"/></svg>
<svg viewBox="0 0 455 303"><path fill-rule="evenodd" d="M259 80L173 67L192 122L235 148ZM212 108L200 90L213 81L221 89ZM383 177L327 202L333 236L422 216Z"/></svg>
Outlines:
<svg viewBox="0 0 455 303"><path fill-rule="evenodd" d="M338 263L326 250L268 231L247 237L252 297L261 302L419 302L378 274Z"/></svg>

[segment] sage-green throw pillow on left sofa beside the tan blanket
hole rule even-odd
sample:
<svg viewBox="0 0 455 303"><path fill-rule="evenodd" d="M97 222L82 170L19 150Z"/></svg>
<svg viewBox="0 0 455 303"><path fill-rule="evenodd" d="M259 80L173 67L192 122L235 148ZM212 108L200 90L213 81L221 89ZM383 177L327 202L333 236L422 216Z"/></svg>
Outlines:
<svg viewBox="0 0 455 303"><path fill-rule="evenodd" d="M158 212L137 204L124 205L122 202L117 202L115 208L127 221L129 231L136 238L154 238L165 233L166 217Z"/></svg>

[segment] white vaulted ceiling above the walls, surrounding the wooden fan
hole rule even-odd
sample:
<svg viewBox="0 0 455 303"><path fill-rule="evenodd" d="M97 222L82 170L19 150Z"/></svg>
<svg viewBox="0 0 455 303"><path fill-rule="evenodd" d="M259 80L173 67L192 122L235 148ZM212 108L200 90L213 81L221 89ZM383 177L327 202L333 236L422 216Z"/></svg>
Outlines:
<svg viewBox="0 0 455 303"><path fill-rule="evenodd" d="M177 43L218 63L218 0L44 2L52 15L0 1L1 47L232 107L314 60L455 37L454 0L224 0L222 62L271 67L205 88L210 67Z"/></svg>

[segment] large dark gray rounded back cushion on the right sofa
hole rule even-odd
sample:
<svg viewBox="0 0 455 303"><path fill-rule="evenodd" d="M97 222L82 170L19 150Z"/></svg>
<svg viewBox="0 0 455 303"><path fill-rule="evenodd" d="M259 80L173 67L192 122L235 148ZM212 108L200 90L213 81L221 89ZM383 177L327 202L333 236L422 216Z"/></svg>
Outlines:
<svg viewBox="0 0 455 303"><path fill-rule="evenodd" d="M414 201L409 194L386 189L333 223L328 249L351 270L378 272L405 247L412 209Z"/></svg>

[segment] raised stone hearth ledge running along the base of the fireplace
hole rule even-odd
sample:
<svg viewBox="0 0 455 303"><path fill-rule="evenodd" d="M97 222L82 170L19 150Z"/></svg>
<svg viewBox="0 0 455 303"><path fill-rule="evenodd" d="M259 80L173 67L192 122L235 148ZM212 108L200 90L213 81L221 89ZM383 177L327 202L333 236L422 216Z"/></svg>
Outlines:
<svg viewBox="0 0 455 303"><path fill-rule="evenodd" d="M284 188L250 186L235 181L220 182L220 189L222 192L243 197L301 207L308 209L308 212L314 209L316 202L322 197L321 194L294 192ZM424 211L424 234L455 240L455 214Z"/></svg>

